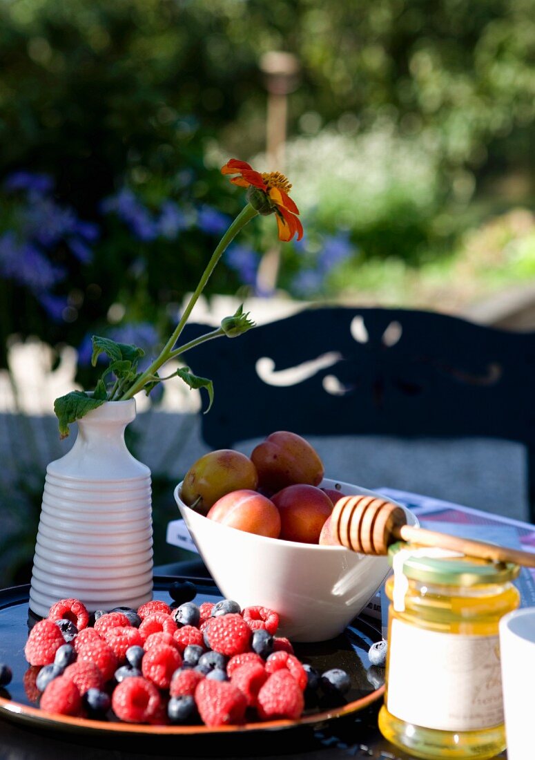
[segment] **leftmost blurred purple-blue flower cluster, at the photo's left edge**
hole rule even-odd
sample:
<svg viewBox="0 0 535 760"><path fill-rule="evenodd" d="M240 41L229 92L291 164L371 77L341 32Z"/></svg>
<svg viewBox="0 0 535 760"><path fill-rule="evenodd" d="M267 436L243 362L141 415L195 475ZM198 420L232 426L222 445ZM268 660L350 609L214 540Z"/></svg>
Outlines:
<svg viewBox="0 0 535 760"><path fill-rule="evenodd" d="M54 183L46 174L18 171L5 179L3 188L11 213L6 214L7 229L0 231L0 277L26 287L50 318L61 321L67 299L53 290L68 271L53 255L58 245L65 245L77 261L89 263L99 228L54 200Z"/></svg>

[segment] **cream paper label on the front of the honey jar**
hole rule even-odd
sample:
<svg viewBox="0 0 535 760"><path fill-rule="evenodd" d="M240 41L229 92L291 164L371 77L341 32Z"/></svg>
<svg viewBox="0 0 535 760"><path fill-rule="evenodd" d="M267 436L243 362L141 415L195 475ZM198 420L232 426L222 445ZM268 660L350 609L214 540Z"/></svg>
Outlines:
<svg viewBox="0 0 535 760"><path fill-rule="evenodd" d="M438 633L393 619L386 707L399 720L441 731L502 724L499 636Z"/></svg>

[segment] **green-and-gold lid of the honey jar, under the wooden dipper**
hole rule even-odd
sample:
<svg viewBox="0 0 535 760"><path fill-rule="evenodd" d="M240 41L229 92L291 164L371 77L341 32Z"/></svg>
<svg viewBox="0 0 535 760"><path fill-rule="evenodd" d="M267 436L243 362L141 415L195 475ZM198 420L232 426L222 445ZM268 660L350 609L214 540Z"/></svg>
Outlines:
<svg viewBox="0 0 535 760"><path fill-rule="evenodd" d="M389 547L391 565L396 556L395 564L401 560L402 572L407 578L446 586L506 583L520 572L520 566L514 562L490 562L446 550L425 549L404 541Z"/></svg>

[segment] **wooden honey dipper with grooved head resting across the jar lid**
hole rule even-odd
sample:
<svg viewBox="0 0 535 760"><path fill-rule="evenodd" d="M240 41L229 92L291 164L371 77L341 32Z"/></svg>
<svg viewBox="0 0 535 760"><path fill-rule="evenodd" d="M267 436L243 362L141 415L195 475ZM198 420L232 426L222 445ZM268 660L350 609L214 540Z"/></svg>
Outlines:
<svg viewBox="0 0 535 760"><path fill-rule="evenodd" d="M408 525L404 510L380 496L342 496L332 511L331 530L342 546L361 554L387 554L391 543L403 540L535 567L535 553Z"/></svg>

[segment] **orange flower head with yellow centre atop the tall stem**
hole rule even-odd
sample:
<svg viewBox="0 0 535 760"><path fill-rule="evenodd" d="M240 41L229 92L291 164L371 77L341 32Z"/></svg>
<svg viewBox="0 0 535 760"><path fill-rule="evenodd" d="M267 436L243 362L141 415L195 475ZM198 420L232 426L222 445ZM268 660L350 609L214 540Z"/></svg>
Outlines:
<svg viewBox="0 0 535 760"><path fill-rule="evenodd" d="M221 169L222 174L238 174L233 177L233 185L249 188L247 198L259 214L275 214L279 227L279 239L291 240L297 234L297 240L303 237L303 225L297 219L299 209L291 200L288 192L291 184L280 172L255 172L245 161L231 158ZM256 191L256 192L255 192ZM260 193L258 192L260 191Z"/></svg>

